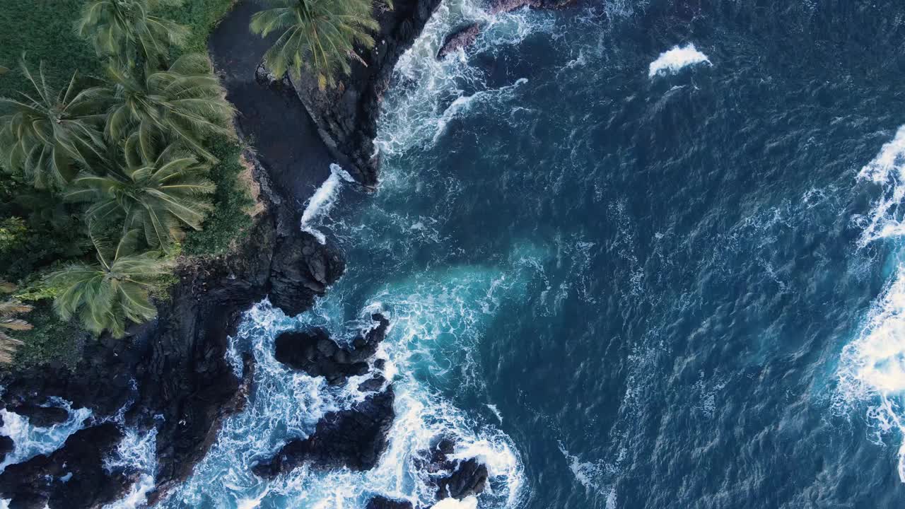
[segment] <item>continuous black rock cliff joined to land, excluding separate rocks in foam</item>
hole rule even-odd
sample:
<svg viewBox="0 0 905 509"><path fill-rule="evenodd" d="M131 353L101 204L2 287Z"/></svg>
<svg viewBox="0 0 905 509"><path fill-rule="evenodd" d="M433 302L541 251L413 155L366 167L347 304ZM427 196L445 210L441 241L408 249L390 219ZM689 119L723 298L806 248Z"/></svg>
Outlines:
<svg viewBox="0 0 905 509"><path fill-rule="evenodd" d="M240 3L227 16L212 35L210 51L227 98L238 110L236 130L256 146L245 157L262 189L264 211L232 254L181 264L178 283L167 301L157 303L154 321L130 328L122 340L86 339L74 369L41 366L0 378L4 407L48 405L53 398L62 398L73 408L92 412L84 428L57 451L0 474L0 497L12 499L15 507L47 504L51 509L69 509L98 507L121 496L135 473L102 467L122 437L110 419L126 427L157 429L151 503L191 474L223 418L243 407L251 360L245 360L243 380L225 358L228 338L242 312L268 295L288 314L303 312L342 274L345 265L337 249L300 231L303 204L322 180L330 158L354 161L349 168L358 182L366 187L376 184L377 162L369 154L378 98L399 55L438 3L409 0L398 3L395 11L380 11L378 45L365 54L367 68L356 63L342 91L303 95L311 118L291 91L255 83L266 46L248 33L243 21L250 15L250 3ZM233 47L218 46L233 39L238 39ZM243 48L233 51L237 44ZM329 99L335 93L341 101ZM277 110L279 116L265 117L267 111ZM92 444L96 454L81 454ZM72 484L76 478L78 483ZM81 486L79 496L71 496L76 485Z"/></svg>

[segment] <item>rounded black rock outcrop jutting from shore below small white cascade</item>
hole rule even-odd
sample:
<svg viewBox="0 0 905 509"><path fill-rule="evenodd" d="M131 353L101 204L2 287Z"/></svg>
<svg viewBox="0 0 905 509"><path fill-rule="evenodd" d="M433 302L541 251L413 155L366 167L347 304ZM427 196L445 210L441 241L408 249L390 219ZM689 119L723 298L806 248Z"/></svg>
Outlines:
<svg viewBox="0 0 905 509"><path fill-rule="evenodd" d="M307 232L281 238L271 264L271 303L295 316L327 293L346 270L342 255Z"/></svg>

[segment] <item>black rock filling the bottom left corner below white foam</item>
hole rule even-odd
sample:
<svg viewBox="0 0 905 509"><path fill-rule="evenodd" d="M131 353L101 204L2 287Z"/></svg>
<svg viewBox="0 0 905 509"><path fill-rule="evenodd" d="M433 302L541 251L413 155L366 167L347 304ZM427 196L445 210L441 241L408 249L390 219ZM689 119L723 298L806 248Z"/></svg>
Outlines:
<svg viewBox="0 0 905 509"><path fill-rule="evenodd" d="M116 500L130 479L110 474L103 461L113 453L122 432L111 423L81 429L50 456L7 466L0 474L0 497L10 507L81 509Z"/></svg>

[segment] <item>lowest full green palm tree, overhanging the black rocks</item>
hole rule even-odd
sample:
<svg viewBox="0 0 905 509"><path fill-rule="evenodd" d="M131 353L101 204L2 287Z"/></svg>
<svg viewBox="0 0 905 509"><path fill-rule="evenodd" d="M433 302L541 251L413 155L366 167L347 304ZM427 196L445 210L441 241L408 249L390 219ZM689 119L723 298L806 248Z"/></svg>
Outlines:
<svg viewBox="0 0 905 509"><path fill-rule="evenodd" d="M126 333L126 321L146 322L157 315L148 291L172 264L159 253L136 253L138 230L123 235L115 249L92 238L98 263L69 264L50 275L60 289L53 309L62 320L78 314L82 325L95 334L107 330L115 338Z"/></svg>

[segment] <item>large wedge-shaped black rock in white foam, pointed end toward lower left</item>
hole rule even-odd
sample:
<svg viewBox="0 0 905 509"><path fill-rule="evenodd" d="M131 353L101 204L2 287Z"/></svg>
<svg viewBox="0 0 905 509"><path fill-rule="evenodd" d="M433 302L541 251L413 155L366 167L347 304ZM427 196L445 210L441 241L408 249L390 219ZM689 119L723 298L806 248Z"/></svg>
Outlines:
<svg viewBox="0 0 905 509"><path fill-rule="evenodd" d="M352 408L329 412L314 433L292 440L276 456L252 468L255 475L274 477L309 461L323 469L348 467L369 470L386 449L386 432L393 425L395 395L390 387L368 396Z"/></svg>

